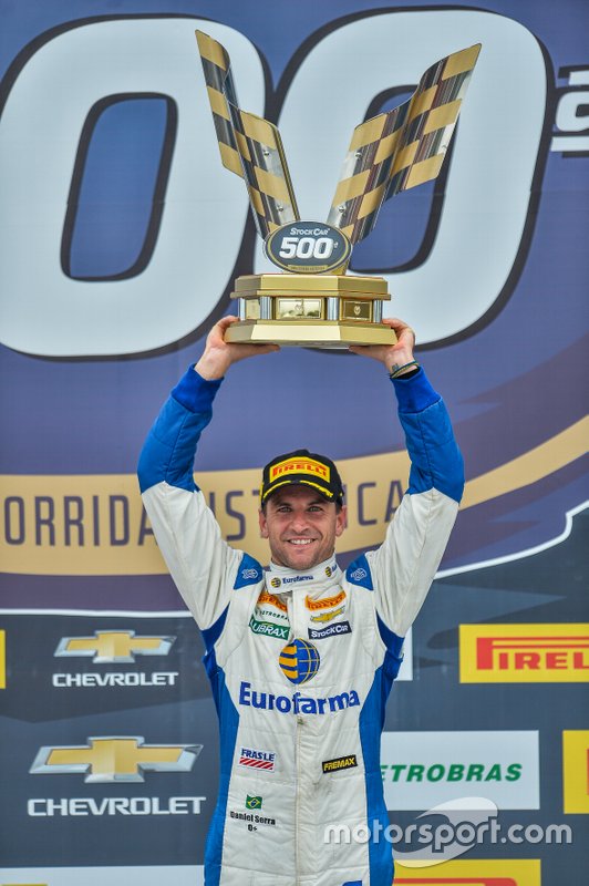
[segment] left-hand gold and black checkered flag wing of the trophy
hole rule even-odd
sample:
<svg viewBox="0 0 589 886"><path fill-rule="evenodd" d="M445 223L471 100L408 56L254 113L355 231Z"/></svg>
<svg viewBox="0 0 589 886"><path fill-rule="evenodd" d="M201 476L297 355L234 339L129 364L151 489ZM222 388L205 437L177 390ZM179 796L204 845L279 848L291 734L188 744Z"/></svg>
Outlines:
<svg viewBox="0 0 589 886"><path fill-rule="evenodd" d="M196 40L223 165L245 178L260 237L299 220L294 192L278 128L241 111L225 48L203 31Z"/></svg>

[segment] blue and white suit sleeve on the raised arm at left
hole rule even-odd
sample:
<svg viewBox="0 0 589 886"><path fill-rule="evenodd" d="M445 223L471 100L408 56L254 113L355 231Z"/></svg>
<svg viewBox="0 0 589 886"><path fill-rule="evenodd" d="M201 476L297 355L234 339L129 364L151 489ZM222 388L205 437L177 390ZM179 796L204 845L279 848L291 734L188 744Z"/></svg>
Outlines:
<svg viewBox="0 0 589 886"><path fill-rule="evenodd" d="M214 625L227 607L244 556L221 538L193 477L196 446L211 419L220 383L203 379L190 368L162 408L138 464L142 497L157 544L202 630Z"/></svg>

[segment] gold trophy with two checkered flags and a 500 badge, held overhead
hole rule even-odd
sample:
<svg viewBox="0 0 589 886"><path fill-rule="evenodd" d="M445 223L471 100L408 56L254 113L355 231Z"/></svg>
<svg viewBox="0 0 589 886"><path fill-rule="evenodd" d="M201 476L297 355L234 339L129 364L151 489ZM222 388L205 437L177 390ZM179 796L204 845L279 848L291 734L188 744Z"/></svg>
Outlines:
<svg viewBox="0 0 589 886"><path fill-rule="evenodd" d="M278 274L238 277L231 342L348 348L391 344L383 277L347 275L384 200L440 173L480 43L427 69L411 99L355 127L327 223L301 222L280 133L242 111L225 48L196 31L224 166L245 179L256 228Z"/></svg>

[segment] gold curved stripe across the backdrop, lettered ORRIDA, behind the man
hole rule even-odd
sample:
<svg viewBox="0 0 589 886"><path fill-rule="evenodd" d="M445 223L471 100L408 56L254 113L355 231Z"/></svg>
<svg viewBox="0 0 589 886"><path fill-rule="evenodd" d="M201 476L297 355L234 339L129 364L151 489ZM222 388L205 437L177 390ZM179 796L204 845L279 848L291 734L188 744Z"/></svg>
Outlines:
<svg viewBox="0 0 589 886"><path fill-rule="evenodd" d="M466 484L462 508L537 483L582 457L589 418L517 459ZM407 487L406 452L365 455L339 463L347 484L349 528L340 550L379 544ZM268 560L259 537L261 468L198 474L225 538ZM0 564L17 575L161 575L167 571L132 474L4 475L0 477Z"/></svg>

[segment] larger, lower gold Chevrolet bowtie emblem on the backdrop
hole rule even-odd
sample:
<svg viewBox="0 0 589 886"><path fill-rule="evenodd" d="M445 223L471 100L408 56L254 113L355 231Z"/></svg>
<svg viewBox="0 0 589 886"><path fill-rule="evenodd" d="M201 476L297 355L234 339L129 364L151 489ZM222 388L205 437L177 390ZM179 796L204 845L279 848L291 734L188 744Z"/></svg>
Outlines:
<svg viewBox="0 0 589 886"><path fill-rule="evenodd" d="M73 748L41 748L32 775L78 772L85 782L143 782L143 773L189 772L202 744L144 744L141 735L89 738Z"/></svg>

